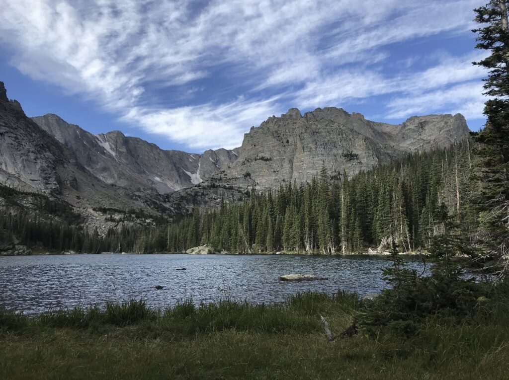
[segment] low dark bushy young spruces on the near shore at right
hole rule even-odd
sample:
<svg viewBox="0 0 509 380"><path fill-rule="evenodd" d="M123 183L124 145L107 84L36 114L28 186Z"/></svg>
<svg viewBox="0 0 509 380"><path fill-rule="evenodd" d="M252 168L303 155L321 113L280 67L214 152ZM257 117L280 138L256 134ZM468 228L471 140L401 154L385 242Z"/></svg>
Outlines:
<svg viewBox="0 0 509 380"><path fill-rule="evenodd" d="M384 279L392 285L383 290L373 303L359 314L360 325L370 331L389 326L400 333L413 334L416 324L431 315L468 316L476 311L480 298L490 297L491 285L467 278L453 256L462 249L455 238L456 225L445 205L439 209L441 233L434 237L431 253L438 258L431 275L418 276L404 269L392 241L393 268L383 270Z"/></svg>

